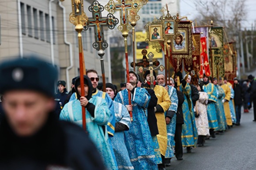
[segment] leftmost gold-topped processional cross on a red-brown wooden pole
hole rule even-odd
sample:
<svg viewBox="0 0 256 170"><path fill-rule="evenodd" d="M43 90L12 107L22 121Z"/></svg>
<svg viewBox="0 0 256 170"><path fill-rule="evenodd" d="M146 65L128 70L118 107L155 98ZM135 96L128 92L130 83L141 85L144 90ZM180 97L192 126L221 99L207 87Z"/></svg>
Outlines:
<svg viewBox="0 0 256 170"><path fill-rule="evenodd" d="M60 0L64 1L64 0ZM85 64L83 59L83 43L82 34L83 25L86 24L88 17L83 11L83 0L71 0L72 13L70 14L69 21L75 25L75 31L78 33L78 47L79 47L79 69L80 69L80 84L84 87L83 75L86 74ZM84 88L81 88L81 96L84 96ZM86 131L86 112L85 107L82 106L82 121L83 129Z"/></svg>

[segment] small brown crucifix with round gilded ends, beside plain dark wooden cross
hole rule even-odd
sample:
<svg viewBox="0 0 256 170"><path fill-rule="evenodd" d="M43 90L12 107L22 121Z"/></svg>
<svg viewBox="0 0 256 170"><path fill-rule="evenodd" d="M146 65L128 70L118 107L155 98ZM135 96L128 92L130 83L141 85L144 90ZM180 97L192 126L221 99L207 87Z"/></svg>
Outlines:
<svg viewBox="0 0 256 170"><path fill-rule="evenodd" d="M143 56L147 54L147 50L143 50L142 52ZM153 77L154 77L154 70L160 70L161 72L165 69L165 67L163 65L159 65L157 67L153 66L153 57L154 54L152 52L150 52L149 54L147 54L147 57L149 58L149 67L143 67L140 66L139 67L139 72L143 72L143 71L150 71L150 88L154 89L154 82L153 82Z"/></svg>

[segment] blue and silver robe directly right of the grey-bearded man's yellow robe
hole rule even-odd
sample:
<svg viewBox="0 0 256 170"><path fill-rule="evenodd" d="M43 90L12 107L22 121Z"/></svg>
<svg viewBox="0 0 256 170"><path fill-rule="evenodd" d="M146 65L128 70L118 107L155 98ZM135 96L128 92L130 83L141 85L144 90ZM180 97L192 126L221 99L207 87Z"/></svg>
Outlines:
<svg viewBox="0 0 256 170"><path fill-rule="evenodd" d="M174 87L168 85L168 94L169 98L171 100L171 105L169 107L169 110L177 112L178 108L178 96L177 91ZM166 116L166 112L165 112ZM174 114L173 118L171 119L171 122L166 125L167 126L167 149L166 149L166 158L173 158L173 146L174 146L174 134L175 134L175 128L176 128L176 114Z"/></svg>

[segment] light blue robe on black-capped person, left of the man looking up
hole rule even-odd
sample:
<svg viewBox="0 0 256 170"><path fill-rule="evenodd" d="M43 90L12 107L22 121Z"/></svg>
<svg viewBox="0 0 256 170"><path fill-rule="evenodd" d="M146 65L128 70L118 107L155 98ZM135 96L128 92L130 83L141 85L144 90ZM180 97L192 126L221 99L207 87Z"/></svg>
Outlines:
<svg viewBox="0 0 256 170"><path fill-rule="evenodd" d="M113 104L116 122L123 123L128 128L130 128L131 118L126 107L121 103L118 103L117 101L113 101ZM125 146L124 131L116 131L115 135L113 137L110 137L110 141L117 160L118 170L133 170L134 168L132 166L127 148Z"/></svg>

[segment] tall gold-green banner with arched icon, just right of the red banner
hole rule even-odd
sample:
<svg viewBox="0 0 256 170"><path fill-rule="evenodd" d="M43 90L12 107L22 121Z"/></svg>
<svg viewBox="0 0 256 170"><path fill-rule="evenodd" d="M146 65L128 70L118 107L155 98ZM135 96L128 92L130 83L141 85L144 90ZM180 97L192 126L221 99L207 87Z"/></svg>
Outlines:
<svg viewBox="0 0 256 170"><path fill-rule="evenodd" d="M223 28L211 28L209 36L210 67L212 77L225 76L223 55Z"/></svg>

